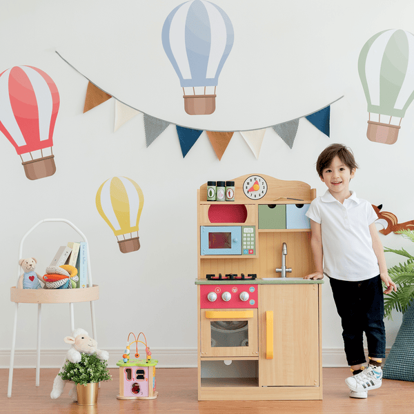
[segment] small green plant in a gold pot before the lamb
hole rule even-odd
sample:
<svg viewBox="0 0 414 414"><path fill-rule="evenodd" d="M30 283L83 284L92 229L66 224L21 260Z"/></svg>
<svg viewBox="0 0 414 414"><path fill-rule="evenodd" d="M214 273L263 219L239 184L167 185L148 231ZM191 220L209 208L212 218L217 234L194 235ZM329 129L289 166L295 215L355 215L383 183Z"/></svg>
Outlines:
<svg viewBox="0 0 414 414"><path fill-rule="evenodd" d="M81 362L66 360L63 371L59 373L62 380L73 381L77 388L77 404L97 404L99 382L112 380L108 371L108 363L101 361L97 355L81 354Z"/></svg>

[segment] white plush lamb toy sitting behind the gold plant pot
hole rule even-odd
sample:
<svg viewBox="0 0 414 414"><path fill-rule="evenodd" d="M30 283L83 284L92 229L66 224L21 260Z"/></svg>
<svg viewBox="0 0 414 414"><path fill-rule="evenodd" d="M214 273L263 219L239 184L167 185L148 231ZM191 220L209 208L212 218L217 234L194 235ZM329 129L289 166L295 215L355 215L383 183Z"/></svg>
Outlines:
<svg viewBox="0 0 414 414"><path fill-rule="evenodd" d="M75 364L81 362L81 353L86 353L88 355L96 353L97 357L102 361L108 361L109 359L108 352L97 349L98 343L95 341L95 339L92 339L88 333L81 328L75 329L71 337L65 337L63 340L66 342L66 344L72 345L66 354L63 366L66 364L66 359L68 359L70 362L74 362ZM59 373L63 372L63 366L60 368ZM50 398L52 398L52 400L55 400L55 398L59 398L62 395L66 382L69 381L62 380L60 375L56 376L55 381L53 382L52 392L50 393ZM77 401L76 384L73 386L72 390L70 390L69 396L72 397L73 401Z"/></svg>

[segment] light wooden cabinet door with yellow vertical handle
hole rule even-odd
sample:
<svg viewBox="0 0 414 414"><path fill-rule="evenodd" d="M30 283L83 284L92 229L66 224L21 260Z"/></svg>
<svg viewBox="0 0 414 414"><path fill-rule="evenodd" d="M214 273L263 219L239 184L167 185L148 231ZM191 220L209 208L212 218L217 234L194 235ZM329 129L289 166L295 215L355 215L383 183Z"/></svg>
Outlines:
<svg viewBox="0 0 414 414"><path fill-rule="evenodd" d="M260 286L259 386L319 386L318 286ZM268 318L273 312L273 332L266 329L266 312ZM272 345L267 333L273 336L273 359L266 359Z"/></svg>

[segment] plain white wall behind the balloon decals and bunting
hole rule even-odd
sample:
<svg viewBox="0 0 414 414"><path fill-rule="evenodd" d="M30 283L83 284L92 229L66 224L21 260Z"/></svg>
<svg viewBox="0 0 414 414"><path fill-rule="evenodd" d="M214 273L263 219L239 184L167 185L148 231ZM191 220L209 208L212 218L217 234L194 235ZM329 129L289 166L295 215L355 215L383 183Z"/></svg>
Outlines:
<svg viewBox="0 0 414 414"><path fill-rule="evenodd" d="M303 2L290 10L291 6L276 2L255 1L253 8L247 1L217 0L231 16L237 43L217 88L217 110L210 117L184 113L177 77L161 47L162 23L178 3L165 0L152 6L153 2L125 1L117 11L111 1L63 5L21 0L8 1L1 10L0 70L27 64L46 71L57 84L61 108L53 147L57 172L52 177L29 181L20 157L0 137L0 366L8 366L10 355L14 316L10 286L17 277L19 241L40 219L69 219L88 237L92 275L100 286L95 303L99 347L112 351L111 364L120 357L128 333L144 331L161 366L196 362L196 190L208 179L258 172L306 181L322 195L325 187L315 172L317 155L328 144L341 142L353 149L360 166L351 189L373 204L383 204L399 221L414 219L410 184L414 108L408 109L396 144L368 141L366 101L357 75L359 50L369 37L386 28L414 32L410 1L401 1L398 10L388 1L366 1L364 6L350 1L346 8L342 1L331 1L328 9L323 1L312 2L320 3L312 7ZM114 99L83 115L88 82L55 50L135 108L195 128L259 128L344 98L331 108L331 138L301 119L292 150L268 129L256 160L236 132L218 161L204 133L183 159L174 126L150 148L142 115L112 132ZM257 69L253 78L252 68ZM99 186L116 175L137 181L145 197L141 249L126 255L119 252L95 206ZM28 238L23 256L36 257L37 272L43 275L55 250L74 239L75 233L63 224L43 224ZM413 251L401 236L381 235L381 239L384 246ZM390 254L386 259L390 266L398 260ZM341 328L328 283L323 296L324 364L341 365ZM34 365L36 310L29 304L19 309L16 364L20 366ZM88 312L88 304L76 304L75 325L91 331ZM400 322L397 314L393 322L386 322L388 347ZM42 323L46 350L42 365L59 364L67 348L63 337L70 328L68 305L43 306Z"/></svg>

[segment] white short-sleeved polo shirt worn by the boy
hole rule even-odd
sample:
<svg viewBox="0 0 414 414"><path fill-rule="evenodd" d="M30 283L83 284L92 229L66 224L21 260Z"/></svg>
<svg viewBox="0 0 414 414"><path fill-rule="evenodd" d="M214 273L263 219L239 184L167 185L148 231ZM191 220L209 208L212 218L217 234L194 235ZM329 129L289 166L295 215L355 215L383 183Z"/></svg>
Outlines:
<svg viewBox="0 0 414 414"><path fill-rule="evenodd" d="M321 225L324 274L355 282L380 274L368 228L378 217L368 201L352 191L341 204L327 190L312 201L306 216Z"/></svg>

